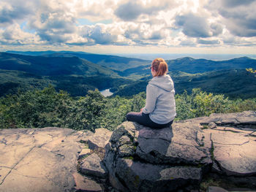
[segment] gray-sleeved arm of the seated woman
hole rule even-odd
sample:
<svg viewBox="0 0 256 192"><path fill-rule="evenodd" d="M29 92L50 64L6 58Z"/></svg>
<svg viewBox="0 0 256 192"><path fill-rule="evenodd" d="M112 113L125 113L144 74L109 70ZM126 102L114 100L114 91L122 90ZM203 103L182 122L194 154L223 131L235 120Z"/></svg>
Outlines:
<svg viewBox="0 0 256 192"><path fill-rule="evenodd" d="M148 114L154 111L157 101L157 88L154 85L147 85L146 88L146 106L142 112Z"/></svg>

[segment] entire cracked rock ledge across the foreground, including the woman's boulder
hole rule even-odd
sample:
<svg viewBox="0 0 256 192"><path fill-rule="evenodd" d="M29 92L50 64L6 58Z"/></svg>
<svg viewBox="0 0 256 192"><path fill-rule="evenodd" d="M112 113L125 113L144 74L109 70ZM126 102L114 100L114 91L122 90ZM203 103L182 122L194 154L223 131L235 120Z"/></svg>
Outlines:
<svg viewBox="0 0 256 192"><path fill-rule="evenodd" d="M0 129L0 191L255 191L255 125L248 111L159 130Z"/></svg>

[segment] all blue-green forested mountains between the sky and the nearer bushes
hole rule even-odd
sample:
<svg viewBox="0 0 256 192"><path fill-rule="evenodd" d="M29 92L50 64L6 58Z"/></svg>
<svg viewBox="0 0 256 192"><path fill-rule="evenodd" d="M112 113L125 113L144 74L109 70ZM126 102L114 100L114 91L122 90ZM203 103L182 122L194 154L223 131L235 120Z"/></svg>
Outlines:
<svg viewBox="0 0 256 192"><path fill-rule="evenodd" d="M255 59L211 61L185 57L167 60L167 64L176 93L202 88L228 96L256 95L255 76L245 70L256 68ZM146 60L83 52L8 51L0 53L0 96L15 93L20 87L43 88L49 84L72 96L84 96L94 88L111 88L116 95L132 96L146 91L150 65L151 61Z"/></svg>

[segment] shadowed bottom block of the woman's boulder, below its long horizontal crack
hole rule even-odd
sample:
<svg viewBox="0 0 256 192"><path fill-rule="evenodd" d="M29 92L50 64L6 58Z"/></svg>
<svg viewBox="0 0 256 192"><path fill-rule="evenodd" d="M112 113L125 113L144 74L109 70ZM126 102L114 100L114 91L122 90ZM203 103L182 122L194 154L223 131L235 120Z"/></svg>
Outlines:
<svg viewBox="0 0 256 192"><path fill-rule="evenodd" d="M201 180L197 167L145 164L126 158L118 158L116 174L129 191L175 191L184 185L198 185Z"/></svg>

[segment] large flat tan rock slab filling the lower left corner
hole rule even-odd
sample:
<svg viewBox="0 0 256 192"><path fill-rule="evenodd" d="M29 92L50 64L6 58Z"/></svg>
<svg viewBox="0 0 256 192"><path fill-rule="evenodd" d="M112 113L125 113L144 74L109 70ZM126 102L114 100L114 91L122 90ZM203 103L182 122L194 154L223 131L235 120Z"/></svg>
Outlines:
<svg viewBox="0 0 256 192"><path fill-rule="evenodd" d="M68 128L0 130L0 191L75 191L84 131Z"/></svg>

